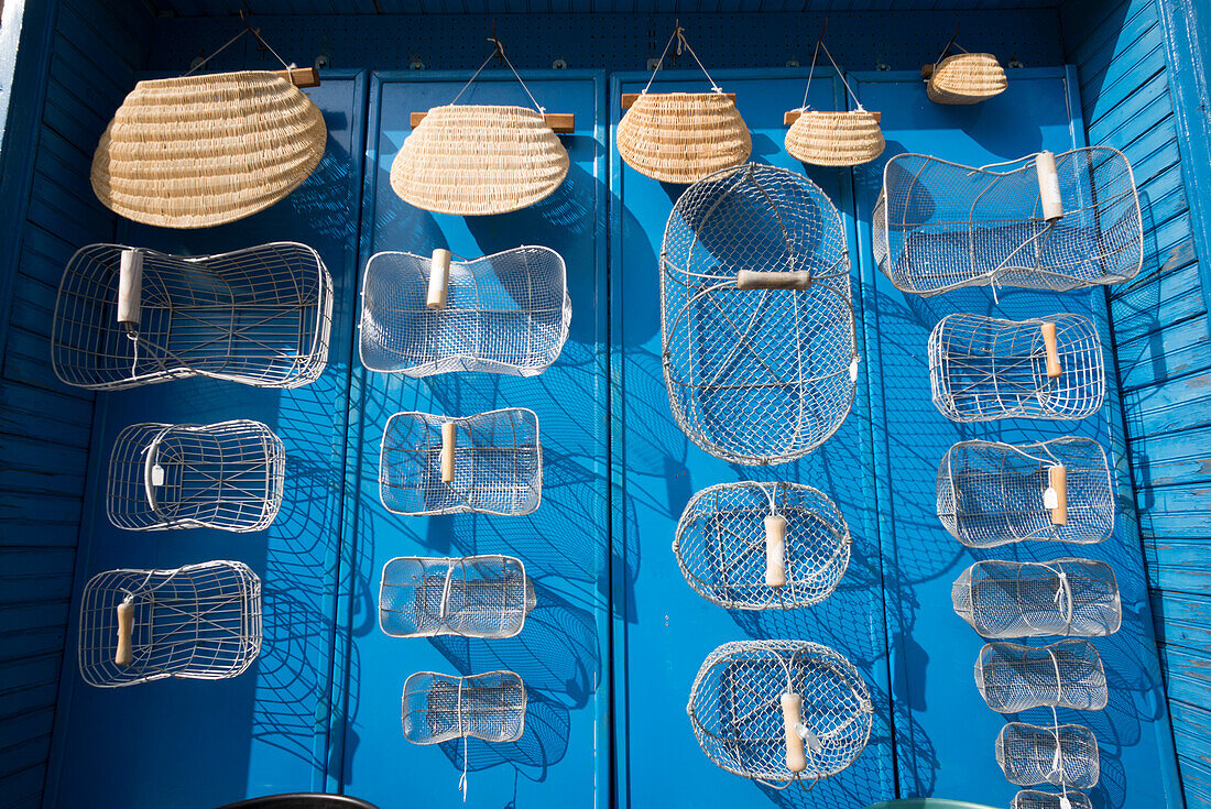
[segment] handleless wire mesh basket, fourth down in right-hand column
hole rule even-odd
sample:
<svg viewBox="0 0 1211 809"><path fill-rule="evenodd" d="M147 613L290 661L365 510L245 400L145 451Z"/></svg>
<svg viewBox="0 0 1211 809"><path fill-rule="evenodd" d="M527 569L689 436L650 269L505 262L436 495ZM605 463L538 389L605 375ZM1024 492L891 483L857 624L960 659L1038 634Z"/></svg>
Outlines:
<svg viewBox="0 0 1211 809"><path fill-rule="evenodd" d="M1123 622L1114 570L1104 562L976 562L951 587L954 612L986 638L1113 635Z"/></svg>

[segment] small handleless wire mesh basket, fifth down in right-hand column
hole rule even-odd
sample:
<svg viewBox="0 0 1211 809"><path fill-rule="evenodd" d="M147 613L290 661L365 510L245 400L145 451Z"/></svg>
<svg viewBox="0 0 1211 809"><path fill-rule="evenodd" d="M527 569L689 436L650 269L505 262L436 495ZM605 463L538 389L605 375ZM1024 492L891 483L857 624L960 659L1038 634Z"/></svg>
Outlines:
<svg viewBox="0 0 1211 809"><path fill-rule="evenodd" d="M1034 707L1101 711L1109 699L1102 658L1079 638L1045 647L987 643L976 658L976 687L998 713Z"/></svg>

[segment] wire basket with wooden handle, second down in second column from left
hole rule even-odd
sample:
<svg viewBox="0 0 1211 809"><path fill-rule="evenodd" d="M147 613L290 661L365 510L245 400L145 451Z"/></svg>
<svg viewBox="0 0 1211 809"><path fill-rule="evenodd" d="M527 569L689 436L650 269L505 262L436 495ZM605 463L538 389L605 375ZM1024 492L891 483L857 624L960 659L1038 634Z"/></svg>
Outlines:
<svg viewBox="0 0 1211 809"><path fill-rule="evenodd" d="M522 407L464 418L396 413L383 431L379 498L403 515L530 513L543 499L538 415Z"/></svg>

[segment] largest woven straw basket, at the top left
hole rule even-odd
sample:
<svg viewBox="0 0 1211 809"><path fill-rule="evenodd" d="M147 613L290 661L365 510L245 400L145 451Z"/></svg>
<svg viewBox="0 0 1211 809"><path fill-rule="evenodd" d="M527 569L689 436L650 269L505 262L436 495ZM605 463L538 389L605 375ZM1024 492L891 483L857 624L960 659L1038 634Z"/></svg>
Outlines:
<svg viewBox="0 0 1211 809"><path fill-rule="evenodd" d="M311 99L269 71L140 81L101 136L92 190L134 222L210 228L298 188L327 137Z"/></svg>

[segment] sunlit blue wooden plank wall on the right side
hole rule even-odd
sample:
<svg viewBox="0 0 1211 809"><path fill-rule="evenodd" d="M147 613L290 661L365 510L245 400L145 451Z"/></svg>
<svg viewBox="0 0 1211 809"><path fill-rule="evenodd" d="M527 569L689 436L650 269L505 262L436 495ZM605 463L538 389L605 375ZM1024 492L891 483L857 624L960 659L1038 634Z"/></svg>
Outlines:
<svg viewBox="0 0 1211 809"><path fill-rule="evenodd" d="M1131 472L1190 809L1211 807L1211 345L1157 0L1068 2L1089 140L1135 168L1144 266L1110 292Z"/></svg>

